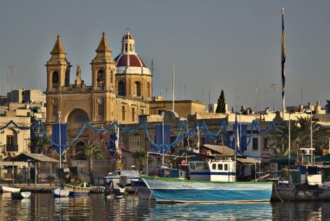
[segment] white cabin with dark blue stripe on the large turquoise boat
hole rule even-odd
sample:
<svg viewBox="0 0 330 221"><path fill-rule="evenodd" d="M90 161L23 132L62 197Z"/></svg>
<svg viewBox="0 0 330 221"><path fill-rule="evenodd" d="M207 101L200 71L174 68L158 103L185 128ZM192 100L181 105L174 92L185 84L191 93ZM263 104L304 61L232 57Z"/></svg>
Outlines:
<svg viewBox="0 0 330 221"><path fill-rule="evenodd" d="M211 162L188 162L190 180L207 180L235 182L235 162L232 160L216 160Z"/></svg>

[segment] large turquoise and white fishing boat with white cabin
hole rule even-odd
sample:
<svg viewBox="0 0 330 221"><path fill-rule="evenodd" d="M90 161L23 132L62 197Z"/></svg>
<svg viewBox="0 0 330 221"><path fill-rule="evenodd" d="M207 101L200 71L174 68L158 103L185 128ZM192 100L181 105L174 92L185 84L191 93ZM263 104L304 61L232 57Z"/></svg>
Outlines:
<svg viewBox="0 0 330 221"><path fill-rule="evenodd" d="M142 176L157 203L221 203L270 201L271 182L236 182L231 159L191 161L186 169L161 169ZM185 174L186 173L186 174Z"/></svg>

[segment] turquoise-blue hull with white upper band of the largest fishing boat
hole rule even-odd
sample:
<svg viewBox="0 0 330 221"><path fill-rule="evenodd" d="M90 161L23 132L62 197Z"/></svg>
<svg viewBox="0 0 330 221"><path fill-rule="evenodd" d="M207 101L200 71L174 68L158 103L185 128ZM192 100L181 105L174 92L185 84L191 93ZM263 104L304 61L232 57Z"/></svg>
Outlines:
<svg viewBox="0 0 330 221"><path fill-rule="evenodd" d="M159 203L270 201L272 183L217 183L143 178Z"/></svg>

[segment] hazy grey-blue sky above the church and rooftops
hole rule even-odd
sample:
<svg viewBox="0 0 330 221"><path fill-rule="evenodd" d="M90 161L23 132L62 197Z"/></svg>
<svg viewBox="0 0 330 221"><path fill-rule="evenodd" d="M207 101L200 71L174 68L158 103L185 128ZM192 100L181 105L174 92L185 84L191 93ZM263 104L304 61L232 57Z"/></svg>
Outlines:
<svg viewBox="0 0 330 221"><path fill-rule="evenodd" d="M91 82L90 62L106 31L113 57L126 28L150 66L155 59L153 95L171 98L171 65L182 99L216 101L224 90L229 107L280 108L280 8L285 6L288 105L330 99L330 1L4 1L0 3L0 81L10 90L8 65L17 66L13 87L45 89L45 62L57 34L67 59ZM0 92L1 92L0 85ZM184 85L187 92L185 94ZM238 95L238 96L237 96ZM239 102L237 101L239 97Z"/></svg>

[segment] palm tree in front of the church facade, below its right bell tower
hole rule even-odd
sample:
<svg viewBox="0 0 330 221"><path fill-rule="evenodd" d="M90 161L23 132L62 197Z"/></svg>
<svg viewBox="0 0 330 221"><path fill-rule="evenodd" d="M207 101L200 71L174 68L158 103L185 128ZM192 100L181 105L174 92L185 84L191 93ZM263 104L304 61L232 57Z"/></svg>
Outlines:
<svg viewBox="0 0 330 221"><path fill-rule="evenodd" d="M84 148L81 148L78 151L78 156L85 157L88 160L88 172L89 172L89 180L90 183L94 183L94 159L102 159L103 154L101 153L101 148L99 144L93 143L89 145L85 145Z"/></svg>

